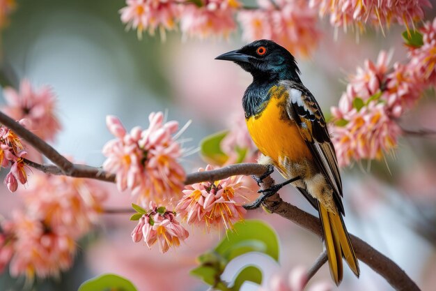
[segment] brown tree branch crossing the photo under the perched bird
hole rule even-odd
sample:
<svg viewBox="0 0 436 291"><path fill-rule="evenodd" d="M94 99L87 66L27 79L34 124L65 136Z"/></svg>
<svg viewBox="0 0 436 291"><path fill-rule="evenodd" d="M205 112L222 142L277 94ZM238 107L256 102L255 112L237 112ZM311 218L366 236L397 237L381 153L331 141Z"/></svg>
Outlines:
<svg viewBox="0 0 436 291"><path fill-rule="evenodd" d="M27 165L48 174L63 174L70 177L83 177L115 182L115 175L104 172L101 168L71 163L67 158L59 154L56 149L47 144L47 142L41 140L40 137L31 133L29 130L8 117L6 114L3 114L3 112L0 112L0 122L1 124L4 124L13 130L17 135L26 140L26 142L35 147L35 149L40 151L41 154L44 154L44 156L49 158L49 160L54 163L54 165L41 165L26 160L25 163ZM201 181L215 181L239 174L260 175L265 173L266 170L267 167L256 163L228 165L217 170L187 174L185 184L194 184ZM274 180L272 177L268 176L263 179L262 188L270 188L272 185L274 185ZM267 200L263 202L263 205L267 211L279 214L279 216L282 216L289 221L293 221L297 225L304 227L306 230L317 234L318 237L322 237L320 220L315 216L302 211L298 207L288 204L287 202L283 202L278 193L267 198ZM109 210L109 212L113 213L116 211ZM373 247L366 244L366 242L362 241L358 237L355 237L352 234L350 234L350 237L352 245L355 248L357 258L371 267L371 269L376 271L378 274L383 276L392 287L398 291L419 291L418 286L412 281L411 278L409 278L409 276L407 276L407 274L405 274L403 269L400 269L400 267L395 264L395 262L387 258L382 253L376 251ZM316 272L315 268L312 269L313 272Z"/></svg>

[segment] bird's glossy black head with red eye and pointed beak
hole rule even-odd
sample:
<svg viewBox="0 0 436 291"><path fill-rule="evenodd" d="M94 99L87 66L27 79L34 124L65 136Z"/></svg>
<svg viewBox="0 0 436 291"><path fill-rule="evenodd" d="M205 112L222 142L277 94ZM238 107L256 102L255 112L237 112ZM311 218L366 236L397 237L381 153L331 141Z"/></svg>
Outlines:
<svg viewBox="0 0 436 291"><path fill-rule="evenodd" d="M234 61L253 75L254 80L299 80L295 58L286 48L272 40L256 40L239 50L221 54L215 59Z"/></svg>

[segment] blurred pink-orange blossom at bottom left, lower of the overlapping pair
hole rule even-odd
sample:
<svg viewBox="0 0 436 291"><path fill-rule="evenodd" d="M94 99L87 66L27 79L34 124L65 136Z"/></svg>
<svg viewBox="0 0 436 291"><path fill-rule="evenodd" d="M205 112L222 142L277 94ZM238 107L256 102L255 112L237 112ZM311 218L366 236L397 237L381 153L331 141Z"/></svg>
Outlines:
<svg viewBox="0 0 436 291"><path fill-rule="evenodd" d="M35 276L59 276L72 264L76 250L74 239L65 232L53 232L38 219L16 212L10 221L15 234L10 274L24 275L29 281Z"/></svg>

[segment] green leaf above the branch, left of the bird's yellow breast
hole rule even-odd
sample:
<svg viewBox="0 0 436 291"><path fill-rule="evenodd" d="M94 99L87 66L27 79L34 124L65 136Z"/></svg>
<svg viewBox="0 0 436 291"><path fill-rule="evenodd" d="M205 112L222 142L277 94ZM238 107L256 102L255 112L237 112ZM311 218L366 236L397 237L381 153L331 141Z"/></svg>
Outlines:
<svg viewBox="0 0 436 291"><path fill-rule="evenodd" d="M205 137L200 142L200 154L205 161L216 165L224 165L228 156L221 150L221 141L226 137L228 130Z"/></svg>

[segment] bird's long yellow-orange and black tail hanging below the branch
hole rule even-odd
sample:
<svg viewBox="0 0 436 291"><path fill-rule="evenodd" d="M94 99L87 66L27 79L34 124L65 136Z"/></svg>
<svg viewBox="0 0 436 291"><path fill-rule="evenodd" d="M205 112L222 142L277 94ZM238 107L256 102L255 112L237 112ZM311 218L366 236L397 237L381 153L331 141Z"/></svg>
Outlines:
<svg viewBox="0 0 436 291"><path fill-rule="evenodd" d="M350 237L343 223L341 214L334 214L318 202L318 210L324 232L327 258L329 259L330 274L336 285L342 281L342 257L345 258L350 269L359 277L359 262L355 251L352 249Z"/></svg>

